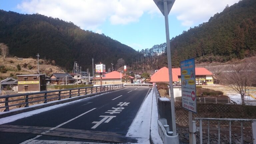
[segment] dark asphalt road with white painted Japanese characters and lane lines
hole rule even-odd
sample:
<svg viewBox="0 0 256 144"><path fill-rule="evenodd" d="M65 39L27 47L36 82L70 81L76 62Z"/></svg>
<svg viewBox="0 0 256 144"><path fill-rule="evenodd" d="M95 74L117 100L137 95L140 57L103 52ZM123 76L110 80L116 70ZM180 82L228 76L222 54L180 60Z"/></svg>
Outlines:
<svg viewBox="0 0 256 144"><path fill-rule="evenodd" d="M135 138L125 135L149 90L145 86L127 87L0 125L0 143L136 143Z"/></svg>

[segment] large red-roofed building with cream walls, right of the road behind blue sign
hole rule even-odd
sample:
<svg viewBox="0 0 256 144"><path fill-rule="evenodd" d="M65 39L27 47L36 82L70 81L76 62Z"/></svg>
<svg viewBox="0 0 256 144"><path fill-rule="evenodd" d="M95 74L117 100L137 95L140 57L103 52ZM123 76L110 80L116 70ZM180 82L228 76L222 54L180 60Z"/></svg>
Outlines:
<svg viewBox="0 0 256 144"><path fill-rule="evenodd" d="M213 84L213 74L206 68L195 68L196 71L196 84ZM172 81L177 84L181 82L180 68L172 68ZM168 82L169 75L168 68L163 67L151 76L151 83L155 82Z"/></svg>

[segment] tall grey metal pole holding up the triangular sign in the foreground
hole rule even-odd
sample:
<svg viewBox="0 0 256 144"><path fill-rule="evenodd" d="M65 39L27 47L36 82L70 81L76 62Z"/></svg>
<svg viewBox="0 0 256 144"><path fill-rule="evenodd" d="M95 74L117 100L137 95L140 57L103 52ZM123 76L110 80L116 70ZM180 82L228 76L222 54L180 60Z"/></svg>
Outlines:
<svg viewBox="0 0 256 144"><path fill-rule="evenodd" d="M173 130L173 135L175 136L175 135L177 135L177 132L176 132L173 85L172 85L172 59L171 59L171 47L170 47L170 36L169 36L167 0L164 0L164 19L165 19L165 33L166 33L166 45L167 45L167 60L168 60L168 70L169 70L170 99L171 99L171 112L172 112L172 130Z"/></svg>

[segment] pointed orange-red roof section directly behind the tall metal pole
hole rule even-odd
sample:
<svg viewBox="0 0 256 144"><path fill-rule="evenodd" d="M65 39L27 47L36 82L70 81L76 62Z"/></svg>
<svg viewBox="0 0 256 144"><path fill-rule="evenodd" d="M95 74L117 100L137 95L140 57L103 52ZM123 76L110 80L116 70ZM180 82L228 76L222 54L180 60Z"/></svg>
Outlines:
<svg viewBox="0 0 256 144"><path fill-rule="evenodd" d="M172 81L179 81L178 75L172 72ZM169 72L167 67L159 69L151 76L150 82L169 82Z"/></svg>

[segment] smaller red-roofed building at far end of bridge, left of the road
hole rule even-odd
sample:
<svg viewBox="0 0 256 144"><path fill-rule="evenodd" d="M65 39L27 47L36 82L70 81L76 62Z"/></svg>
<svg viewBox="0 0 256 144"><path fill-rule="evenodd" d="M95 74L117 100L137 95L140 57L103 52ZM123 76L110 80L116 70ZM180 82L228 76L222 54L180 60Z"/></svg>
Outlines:
<svg viewBox="0 0 256 144"><path fill-rule="evenodd" d="M94 77L94 84L99 85L100 84L100 77ZM129 80L126 83L133 83L134 77L129 76ZM121 84L124 83L124 74L120 73L118 71L112 71L110 73L107 73L103 75L102 77L102 84L103 85L109 85L109 84Z"/></svg>

